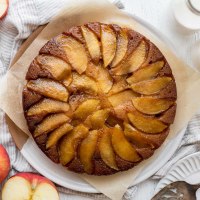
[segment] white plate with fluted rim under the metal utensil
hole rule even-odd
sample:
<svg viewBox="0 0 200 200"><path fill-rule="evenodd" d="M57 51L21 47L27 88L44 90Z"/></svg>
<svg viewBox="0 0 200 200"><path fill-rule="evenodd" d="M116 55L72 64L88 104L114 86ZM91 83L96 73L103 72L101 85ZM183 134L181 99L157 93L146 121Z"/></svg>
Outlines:
<svg viewBox="0 0 200 200"><path fill-rule="evenodd" d="M186 181L190 184L200 183L200 152L179 160L167 175L159 181L155 194L175 181Z"/></svg>

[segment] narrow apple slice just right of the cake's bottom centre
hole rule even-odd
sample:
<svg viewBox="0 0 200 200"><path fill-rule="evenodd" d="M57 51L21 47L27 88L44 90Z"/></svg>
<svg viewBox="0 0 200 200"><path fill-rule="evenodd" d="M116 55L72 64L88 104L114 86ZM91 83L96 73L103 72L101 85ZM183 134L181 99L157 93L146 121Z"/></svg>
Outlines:
<svg viewBox="0 0 200 200"><path fill-rule="evenodd" d="M101 159L106 163L106 165L112 169L119 170L115 160L115 152L111 143L111 129L103 129L102 137L99 141L99 152Z"/></svg>

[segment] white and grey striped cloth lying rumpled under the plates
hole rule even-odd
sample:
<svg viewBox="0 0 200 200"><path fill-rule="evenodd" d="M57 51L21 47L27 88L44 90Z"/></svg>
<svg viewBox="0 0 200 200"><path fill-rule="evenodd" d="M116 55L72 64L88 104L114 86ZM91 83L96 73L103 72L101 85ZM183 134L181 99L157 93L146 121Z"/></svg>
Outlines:
<svg viewBox="0 0 200 200"><path fill-rule="evenodd" d="M10 62L22 42L38 27L49 22L68 0L12 0L9 12L4 20L0 21L0 76L8 69ZM116 3L116 2L115 2ZM118 7L123 7L117 2ZM171 166L186 155L200 149L200 114L197 114L189 123L182 143L168 163L152 178L162 178ZM4 113L0 111L0 143L7 149L12 170L9 177L17 172L36 172L22 157L15 147L5 123ZM1 191L2 185L0 185ZM74 199L108 199L103 194L86 194L58 187L61 200ZM136 187L127 190L123 199L134 198Z"/></svg>

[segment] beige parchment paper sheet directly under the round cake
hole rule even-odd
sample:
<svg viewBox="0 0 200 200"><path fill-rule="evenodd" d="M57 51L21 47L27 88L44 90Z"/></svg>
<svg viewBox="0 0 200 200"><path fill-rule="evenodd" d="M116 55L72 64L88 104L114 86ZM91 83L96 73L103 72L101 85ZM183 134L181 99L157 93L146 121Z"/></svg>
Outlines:
<svg viewBox="0 0 200 200"><path fill-rule="evenodd" d="M133 28L155 43L165 55L172 67L178 90L177 114L167 140L172 139L200 108L200 93L198 92L200 74L187 67L148 29L106 0L80 0L68 3L67 7L43 29L14 66L0 80L0 107L21 130L30 135L23 116L21 99L22 89L26 83L24 77L31 61L50 38L71 26L81 25L89 21L117 23L121 26ZM159 153L159 150L156 153ZM111 199L118 200L121 199L133 179L150 161L151 159L131 170L111 176L81 175L81 177Z"/></svg>

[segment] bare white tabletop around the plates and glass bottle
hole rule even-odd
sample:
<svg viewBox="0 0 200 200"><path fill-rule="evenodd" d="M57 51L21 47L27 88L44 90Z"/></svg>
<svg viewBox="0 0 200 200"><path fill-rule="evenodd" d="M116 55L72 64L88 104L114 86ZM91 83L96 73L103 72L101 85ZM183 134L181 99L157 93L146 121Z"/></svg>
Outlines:
<svg viewBox="0 0 200 200"><path fill-rule="evenodd" d="M174 0L121 0L125 10L142 18L162 34L164 34L172 43L175 52L187 64L193 67L192 50L199 44L200 32L188 31L181 27L173 16ZM195 68L200 69L199 66ZM134 199L150 200L154 193L158 180L148 179L137 187Z"/></svg>

